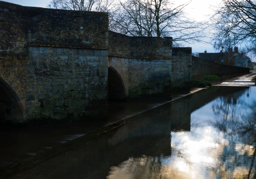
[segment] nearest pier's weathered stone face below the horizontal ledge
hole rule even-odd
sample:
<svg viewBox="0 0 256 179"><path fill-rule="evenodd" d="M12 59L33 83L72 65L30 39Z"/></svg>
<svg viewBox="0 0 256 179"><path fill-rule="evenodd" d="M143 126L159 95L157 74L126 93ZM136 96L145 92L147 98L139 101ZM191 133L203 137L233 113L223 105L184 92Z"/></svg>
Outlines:
<svg viewBox="0 0 256 179"><path fill-rule="evenodd" d="M27 119L107 116L107 50L29 47Z"/></svg>

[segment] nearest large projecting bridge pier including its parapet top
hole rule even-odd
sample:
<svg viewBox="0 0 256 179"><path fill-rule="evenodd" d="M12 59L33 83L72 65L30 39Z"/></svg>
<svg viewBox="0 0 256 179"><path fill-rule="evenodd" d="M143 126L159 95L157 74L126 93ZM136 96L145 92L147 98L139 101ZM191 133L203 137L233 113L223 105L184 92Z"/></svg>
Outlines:
<svg viewBox="0 0 256 179"><path fill-rule="evenodd" d="M107 118L108 16L30 9L27 119Z"/></svg>

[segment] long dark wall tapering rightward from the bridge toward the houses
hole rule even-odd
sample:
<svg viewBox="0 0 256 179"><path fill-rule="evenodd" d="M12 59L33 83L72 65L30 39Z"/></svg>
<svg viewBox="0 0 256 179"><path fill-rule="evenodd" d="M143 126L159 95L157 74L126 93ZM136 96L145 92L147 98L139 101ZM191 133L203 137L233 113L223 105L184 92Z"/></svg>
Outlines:
<svg viewBox="0 0 256 179"><path fill-rule="evenodd" d="M192 56L192 75L249 73L250 68L224 65Z"/></svg>

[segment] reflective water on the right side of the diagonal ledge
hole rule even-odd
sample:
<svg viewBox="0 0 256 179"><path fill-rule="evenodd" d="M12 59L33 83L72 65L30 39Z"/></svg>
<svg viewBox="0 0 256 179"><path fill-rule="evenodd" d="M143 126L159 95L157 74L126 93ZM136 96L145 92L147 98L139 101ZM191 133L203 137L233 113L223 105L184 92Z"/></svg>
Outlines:
<svg viewBox="0 0 256 179"><path fill-rule="evenodd" d="M13 178L256 178L256 87L213 86Z"/></svg>

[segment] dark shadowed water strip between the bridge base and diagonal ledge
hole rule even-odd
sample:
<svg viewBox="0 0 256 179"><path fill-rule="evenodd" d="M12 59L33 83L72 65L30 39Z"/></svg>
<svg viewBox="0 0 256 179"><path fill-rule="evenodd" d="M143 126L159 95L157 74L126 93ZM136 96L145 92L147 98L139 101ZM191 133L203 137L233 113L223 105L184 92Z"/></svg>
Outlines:
<svg viewBox="0 0 256 179"><path fill-rule="evenodd" d="M200 89L191 88L190 92L178 92L172 94L172 98L176 100ZM0 130L0 169L168 102L170 101L164 98L109 102L109 118L106 121Z"/></svg>

